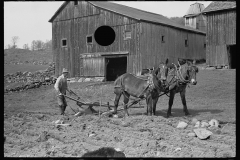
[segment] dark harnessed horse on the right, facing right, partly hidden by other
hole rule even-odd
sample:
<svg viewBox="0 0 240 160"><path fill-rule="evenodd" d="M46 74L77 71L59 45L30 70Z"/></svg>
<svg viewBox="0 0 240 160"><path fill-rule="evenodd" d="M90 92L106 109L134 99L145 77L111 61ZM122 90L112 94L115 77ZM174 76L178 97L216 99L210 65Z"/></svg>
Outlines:
<svg viewBox="0 0 240 160"><path fill-rule="evenodd" d="M185 115L190 115L185 98L186 87L188 84L197 84L196 73L198 72L198 68L195 66L195 61L193 63L191 61L183 61L183 63L184 64L181 65L178 61L178 66L175 64L168 65L168 75L167 80L165 81L165 87L170 91L167 117L172 116L171 108L174 96L178 92L180 92Z"/></svg>

